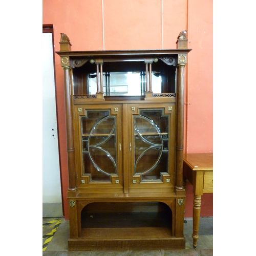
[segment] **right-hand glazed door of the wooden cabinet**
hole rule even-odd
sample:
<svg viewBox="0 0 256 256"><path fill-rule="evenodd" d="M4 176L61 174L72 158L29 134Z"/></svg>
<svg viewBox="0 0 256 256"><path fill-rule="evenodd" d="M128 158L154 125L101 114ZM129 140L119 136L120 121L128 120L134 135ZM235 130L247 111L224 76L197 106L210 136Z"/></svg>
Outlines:
<svg viewBox="0 0 256 256"><path fill-rule="evenodd" d="M127 104L129 192L167 192L174 187L175 103Z"/></svg>

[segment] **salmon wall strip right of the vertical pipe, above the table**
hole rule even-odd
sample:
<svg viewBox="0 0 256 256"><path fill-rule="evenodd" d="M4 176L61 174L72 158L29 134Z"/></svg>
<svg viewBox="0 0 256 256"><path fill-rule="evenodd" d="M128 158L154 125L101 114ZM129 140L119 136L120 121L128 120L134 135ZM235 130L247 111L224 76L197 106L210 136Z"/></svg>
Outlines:
<svg viewBox="0 0 256 256"><path fill-rule="evenodd" d="M212 153L212 1L189 1L187 153Z"/></svg>

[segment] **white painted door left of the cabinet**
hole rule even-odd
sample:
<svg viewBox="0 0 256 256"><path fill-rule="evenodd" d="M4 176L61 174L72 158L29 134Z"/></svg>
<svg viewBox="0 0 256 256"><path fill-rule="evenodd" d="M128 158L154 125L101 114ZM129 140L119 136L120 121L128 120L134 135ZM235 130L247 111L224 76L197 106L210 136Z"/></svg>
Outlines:
<svg viewBox="0 0 256 256"><path fill-rule="evenodd" d="M42 33L42 217L62 217L52 33Z"/></svg>

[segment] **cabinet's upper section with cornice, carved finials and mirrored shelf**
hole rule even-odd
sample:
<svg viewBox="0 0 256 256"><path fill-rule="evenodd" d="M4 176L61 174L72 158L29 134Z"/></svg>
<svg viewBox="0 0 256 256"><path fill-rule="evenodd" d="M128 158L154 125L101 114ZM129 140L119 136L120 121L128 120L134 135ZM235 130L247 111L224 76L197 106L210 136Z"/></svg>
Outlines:
<svg viewBox="0 0 256 256"><path fill-rule="evenodd" d="M187 41L184 30L178 36L177 49L72 51L69 37L61 33L56 53L61 67L71 70L72 94L86 95L78 100L103 102L124 96L135 100L131 97L139 96L136 99L170 101L191 51ZM117 87L120 84L122 90Z"/></svg>

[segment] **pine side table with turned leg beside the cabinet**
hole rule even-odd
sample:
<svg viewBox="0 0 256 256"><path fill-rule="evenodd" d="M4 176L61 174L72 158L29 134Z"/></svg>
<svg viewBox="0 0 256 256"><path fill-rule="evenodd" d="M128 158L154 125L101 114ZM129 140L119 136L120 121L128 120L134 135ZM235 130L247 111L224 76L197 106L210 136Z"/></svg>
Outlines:
<svg viewBox="0 0 256 256"><path fill-rule="evenodd" d="M193 185L193 246L197 247L201 196L213 193L213 154L184 154L183 175Z"/></svg>

